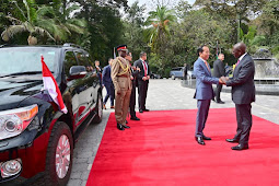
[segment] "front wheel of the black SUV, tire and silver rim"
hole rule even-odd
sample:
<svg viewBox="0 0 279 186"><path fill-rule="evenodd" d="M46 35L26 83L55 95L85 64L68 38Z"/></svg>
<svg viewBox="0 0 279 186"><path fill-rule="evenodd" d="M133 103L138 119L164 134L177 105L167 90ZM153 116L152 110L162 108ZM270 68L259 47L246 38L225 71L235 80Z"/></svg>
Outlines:
<svg viewBox="0 0 279 186"><path fill-rule="evenodd" d="M57 155L62 158L58 160ZM57 186L67 185L72 170L72 156L73 139L70 128L62 121L56 123L49 137L46 154L46 170L43 176L44 183L46 185ZM62 161L63 163L58 163L57 161ZM60 164L60 166L58 164ZM66 170L61 171L60 168Z"/></svg>

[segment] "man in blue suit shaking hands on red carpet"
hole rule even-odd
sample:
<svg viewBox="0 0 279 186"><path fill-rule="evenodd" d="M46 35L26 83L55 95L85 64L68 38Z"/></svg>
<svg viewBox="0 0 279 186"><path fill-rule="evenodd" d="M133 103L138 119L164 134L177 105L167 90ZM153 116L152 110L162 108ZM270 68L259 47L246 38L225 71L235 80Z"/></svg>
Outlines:
<svg viewBox="0 0 279 186"><path fill-rule="evenodd" d="M210 55L208 46L204 45L197 51L199 58L194 63L194 74L196 75L194 98L198 102L195 137L199 144L205 146L204 140L211 140L211 138L204 135L202 130L206 126L211 98L214 96L212 83L218 84L219 82L222 83L222 81L221 79L211 77L210 66L207 62Z"/></svg>

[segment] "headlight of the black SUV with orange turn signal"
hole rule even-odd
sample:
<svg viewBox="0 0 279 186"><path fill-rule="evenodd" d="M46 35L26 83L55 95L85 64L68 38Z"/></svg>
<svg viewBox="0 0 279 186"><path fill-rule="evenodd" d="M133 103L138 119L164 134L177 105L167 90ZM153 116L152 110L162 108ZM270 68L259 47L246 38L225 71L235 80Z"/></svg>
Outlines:
<svg viewBox="0 0 279 186"><path fill-rule="evenodd" d="M0 140L23 132L37 113L37 105L0 112Z"/></svg>

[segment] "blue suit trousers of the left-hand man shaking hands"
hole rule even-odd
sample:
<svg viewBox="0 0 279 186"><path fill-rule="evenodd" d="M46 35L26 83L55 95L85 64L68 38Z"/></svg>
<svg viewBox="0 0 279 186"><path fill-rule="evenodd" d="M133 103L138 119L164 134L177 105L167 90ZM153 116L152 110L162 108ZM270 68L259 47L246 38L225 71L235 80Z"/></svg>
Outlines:
<svg viewBox="0 0 279 186"><path fill-rule="evenodd" d="M196 119L196 137L204 136L204 129L206 127L208 111L210 107L211 100L198 100L198 113Z"/></svg>

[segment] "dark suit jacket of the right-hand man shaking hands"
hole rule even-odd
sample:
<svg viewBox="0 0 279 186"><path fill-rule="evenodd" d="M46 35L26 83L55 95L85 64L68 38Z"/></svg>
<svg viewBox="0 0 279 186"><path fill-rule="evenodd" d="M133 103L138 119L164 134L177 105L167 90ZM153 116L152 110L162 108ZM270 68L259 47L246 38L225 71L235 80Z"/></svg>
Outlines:
<svg viewBox="0 0 279 186"><path fill-rule="evenodd" d="M225 83L228 86L232 86L232 100L235 104L251 104L255 102L254 74L254 60L246 54L235 67L233 78Z"/></svg>

